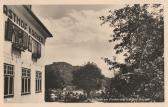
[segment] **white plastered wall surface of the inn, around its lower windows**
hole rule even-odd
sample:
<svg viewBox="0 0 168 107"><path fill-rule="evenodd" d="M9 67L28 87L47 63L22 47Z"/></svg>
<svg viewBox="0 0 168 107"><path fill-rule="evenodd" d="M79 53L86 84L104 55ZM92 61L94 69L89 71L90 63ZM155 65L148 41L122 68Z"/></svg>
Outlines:
<svg viewBox="0 0 168 107"><path fill-rule="evenodd" d="M14 7L13 7L14 8ZM15 10L15 9L13 9ZM15 10L15 13L19 13L22 10ZM22 20L31 24L24 16L24 14L17 14ZM4 26L7 17L4 15ZM33 27L35 28L35 27ZM25 52L21 52L21 57L17 57L11 53L12 44L11 42L5 41L4 42L4 63L14 65L14 97L12 98L4 98L5 102L44 102L44 85L45 85L45 72L44 72L44 45L42 45L42 56L37 62L33 62L31 58L31 52L26 50ZM31 69L31 94L28 95L21 95L21 69L22 67ZM36 71L42 72L42 92L35 93L35 73Z"/></svg>

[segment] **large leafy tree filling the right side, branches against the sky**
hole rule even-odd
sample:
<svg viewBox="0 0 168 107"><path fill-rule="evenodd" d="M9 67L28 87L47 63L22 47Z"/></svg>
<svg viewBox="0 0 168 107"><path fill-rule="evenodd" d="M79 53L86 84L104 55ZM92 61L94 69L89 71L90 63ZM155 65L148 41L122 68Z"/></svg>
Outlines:
<svg viewBox="0 0 168 107"><path fill-rule="evenodd" d="M112 39L116 43L116 54L123 53L125 63L105 58L110 69L120 69L123 77L124 67L132 76L147 78L138 81L139 87L134 93L151 101L164 99L164 20L163 6L127 5L124 8L109 11L108 16L101 16L102 24L109 23L113 27ZM138 72L138 73L137 73ZM143 75L142 75L143 74ZM130 75L125 75L130 77ZM132 78L132 81L136 78Z"/></svg>

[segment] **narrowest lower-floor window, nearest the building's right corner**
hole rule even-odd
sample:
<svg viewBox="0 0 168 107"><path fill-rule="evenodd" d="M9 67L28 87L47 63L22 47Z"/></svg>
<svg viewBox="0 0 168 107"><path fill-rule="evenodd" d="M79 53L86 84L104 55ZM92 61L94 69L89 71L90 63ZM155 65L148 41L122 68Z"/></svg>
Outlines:
<svg viewBox="0 0 168 107"><path fill-rule="evenodd" d="M42 73L36 71L36 93L41 92Z"/></svg>

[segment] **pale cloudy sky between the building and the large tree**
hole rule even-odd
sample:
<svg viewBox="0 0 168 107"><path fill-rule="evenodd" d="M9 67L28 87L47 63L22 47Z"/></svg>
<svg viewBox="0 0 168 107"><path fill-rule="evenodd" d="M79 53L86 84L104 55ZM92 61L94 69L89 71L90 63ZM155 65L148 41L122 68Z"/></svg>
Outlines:
<svg viewBox="0 0 168 107"><path fill-rule="evenodd" d="M74 66L94 62L106 77L113 71L101 57L115 55L114 43L109 43L112 28L101 26L99 16L108 15L123 5L33 5L32 10L53 34L46 41L45 64L67 62ZM123 62L121 56L117 60Z"/></svg>

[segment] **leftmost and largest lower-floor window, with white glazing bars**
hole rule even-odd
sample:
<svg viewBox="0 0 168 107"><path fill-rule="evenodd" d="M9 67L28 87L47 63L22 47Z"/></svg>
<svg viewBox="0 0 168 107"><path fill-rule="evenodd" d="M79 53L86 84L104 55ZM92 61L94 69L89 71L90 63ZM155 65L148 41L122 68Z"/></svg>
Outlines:
<svg viewBox="0 0 168 107"><path fill-rule="evenodd" d="M4 97L14 96L14 66L4 64Z"/></svg>

